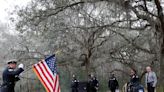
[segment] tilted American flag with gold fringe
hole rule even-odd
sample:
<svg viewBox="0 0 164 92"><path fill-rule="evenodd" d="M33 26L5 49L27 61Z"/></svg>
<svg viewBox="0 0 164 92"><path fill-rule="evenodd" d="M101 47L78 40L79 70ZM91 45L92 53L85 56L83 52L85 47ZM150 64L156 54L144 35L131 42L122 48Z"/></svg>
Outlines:
<svg viewBox="0 0 164 92"><path fill-rule="evenodd" d="M60 92L55 55L49 56L33 65L33 70L47 92Z"/></svg>

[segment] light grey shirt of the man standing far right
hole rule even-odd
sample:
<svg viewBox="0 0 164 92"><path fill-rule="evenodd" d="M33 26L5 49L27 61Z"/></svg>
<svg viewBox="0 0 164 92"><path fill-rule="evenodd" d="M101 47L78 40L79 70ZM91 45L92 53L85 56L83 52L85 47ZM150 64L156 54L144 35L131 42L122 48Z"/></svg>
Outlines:
<svg viewBox="0 0 164 92"><path fill-rule="evenodd" d="M153 87L156 86L156 84L157 84L157 76L156 76L155 72L146 73L145 83L146 83L146 86L147 86L147 83L152 83Z"/></svg>

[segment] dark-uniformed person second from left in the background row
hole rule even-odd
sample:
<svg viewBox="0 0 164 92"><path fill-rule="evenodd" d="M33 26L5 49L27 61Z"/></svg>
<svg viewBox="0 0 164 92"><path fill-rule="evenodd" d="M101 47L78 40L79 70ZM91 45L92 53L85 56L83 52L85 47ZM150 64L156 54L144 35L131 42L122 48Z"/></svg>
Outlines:
<svg viewBox="0 0 164 92"><path fill-rule="evenodd" d="M90 79L87 86L87 92L97 92L99 82L94 75L89 75Z"/></svg>

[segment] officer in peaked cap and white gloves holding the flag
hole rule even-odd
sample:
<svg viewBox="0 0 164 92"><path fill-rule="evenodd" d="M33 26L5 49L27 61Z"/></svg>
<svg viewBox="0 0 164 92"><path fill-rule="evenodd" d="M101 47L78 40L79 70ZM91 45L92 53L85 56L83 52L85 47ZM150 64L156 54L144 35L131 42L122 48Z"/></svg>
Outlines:
<svg viewBox="0 0 164 92"><path fill-rule="evenodd" d="M10 60L7 64L8 66L2 74L3 84L1 86L1 92L15 92L15 83L20 80L19 74L24 71L24 66L23 64L19 64L18 69L16 69L16 60Z"/></svg>

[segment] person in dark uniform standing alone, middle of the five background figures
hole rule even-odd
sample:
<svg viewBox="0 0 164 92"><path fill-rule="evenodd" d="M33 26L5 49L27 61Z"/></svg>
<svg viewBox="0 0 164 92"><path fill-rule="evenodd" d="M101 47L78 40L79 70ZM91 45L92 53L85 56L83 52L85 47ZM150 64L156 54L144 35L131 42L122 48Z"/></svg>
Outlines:
<svg viewBox="0 0 164 92"><path fill-rule="evenodd" d="M117 81L117 79L116 79L114 74L112 74L110 79L109 79L108 87L111 90L111 92L115 92L116 89L118 89L118 87L119 87L118 81Z"/></svg>

